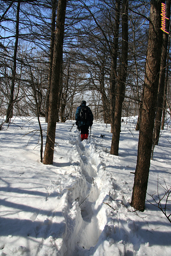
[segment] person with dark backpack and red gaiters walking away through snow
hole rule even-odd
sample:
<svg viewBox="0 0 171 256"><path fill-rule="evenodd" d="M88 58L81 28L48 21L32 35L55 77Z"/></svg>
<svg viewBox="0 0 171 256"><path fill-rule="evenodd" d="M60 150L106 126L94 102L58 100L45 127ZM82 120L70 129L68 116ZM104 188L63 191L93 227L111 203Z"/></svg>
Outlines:
<svg viewBox="0 0 171 256"><path fill-rule="evenodd" d="M82 101L75 113L77 128L81 131L81 140L88 139L89 127L93 124L93 114L91 109L86 106L86 101Z"/></svg>

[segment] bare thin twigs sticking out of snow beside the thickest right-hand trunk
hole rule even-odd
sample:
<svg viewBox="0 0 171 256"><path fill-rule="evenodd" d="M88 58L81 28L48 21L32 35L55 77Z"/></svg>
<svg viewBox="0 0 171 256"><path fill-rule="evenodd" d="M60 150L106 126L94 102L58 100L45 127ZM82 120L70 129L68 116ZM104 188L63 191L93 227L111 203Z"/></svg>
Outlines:
<svg viewBox="0 0 171 256"><path fill-rule="evenodd" d="M168 188L167 184L165 183L165 180L164 180L164 183L165 183L165 187L163 187L161 184L161 187L164 188L165 192L164 192L164 196L162 196L160 198L160 195L159 195L159 191L158 191L158 184L159 184L159 178L157 178L157 198L158 198L158 201L154 198L154 195L156 194L153 194L153 195L150 195L148 194L149 196L152 197L152 199L154 200L154 202L157 204L155 205L154 203L151 203L150 201L148 201L150 204L154 205L155 207L158 207L162 213L165 215L165 217L168 219L168 221L171 223L171 206L168 206L168 202L170 202L170 198L171 198L171 187ZM161 201L163 202L163 199L165 199L165 203L164 203L164 206L162 206L161 204ZM169 212L168 212L169 211Z"/></svg>

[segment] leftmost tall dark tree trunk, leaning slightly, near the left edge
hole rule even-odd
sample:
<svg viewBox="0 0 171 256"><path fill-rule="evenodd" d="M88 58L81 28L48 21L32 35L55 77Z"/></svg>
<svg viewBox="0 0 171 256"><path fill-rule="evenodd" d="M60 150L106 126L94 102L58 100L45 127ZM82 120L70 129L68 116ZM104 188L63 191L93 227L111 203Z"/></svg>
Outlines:
<svg viewBox="0 0 171 256"><path fill-rule="evenodd" d="M17 4L17 14L16 14L16 40L14 46L14 56L13 56L13 76L11 81L11 90L10 90L10 100L7 109L6 123L9 123L10 118L13 117L13 105L14 105L14 85L16 81L16 68L17 68L17 48L19 42L19 13L20 13L20 0Z"/></svg>

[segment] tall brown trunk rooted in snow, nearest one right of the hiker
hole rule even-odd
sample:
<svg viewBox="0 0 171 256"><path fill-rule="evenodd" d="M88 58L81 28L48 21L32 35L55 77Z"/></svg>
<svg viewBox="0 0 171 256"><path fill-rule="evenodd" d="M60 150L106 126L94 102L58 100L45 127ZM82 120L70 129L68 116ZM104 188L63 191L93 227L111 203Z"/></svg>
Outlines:
<svg viewBox="0 0 171 256"><path fill-rule="evenodd" d="M115 118L112 131L111 154L118 155L121 132L122 103L125 97L125 81L128 66L128 0L122 2L122 57L121 75L118 81L115 100Z"/></svg>

